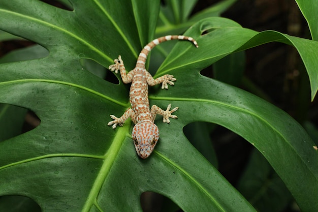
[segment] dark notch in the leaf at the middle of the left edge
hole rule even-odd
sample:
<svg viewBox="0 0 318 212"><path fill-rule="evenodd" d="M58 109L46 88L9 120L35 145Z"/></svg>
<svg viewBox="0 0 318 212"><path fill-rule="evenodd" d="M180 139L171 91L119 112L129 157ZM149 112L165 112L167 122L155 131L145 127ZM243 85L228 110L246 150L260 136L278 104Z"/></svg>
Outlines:
<svg viewBox="0 0 318 212"><path fill-rule="evenodd" d="M0 141L33 130L40 125L39 117L25 108L0 104Z"/></svg>

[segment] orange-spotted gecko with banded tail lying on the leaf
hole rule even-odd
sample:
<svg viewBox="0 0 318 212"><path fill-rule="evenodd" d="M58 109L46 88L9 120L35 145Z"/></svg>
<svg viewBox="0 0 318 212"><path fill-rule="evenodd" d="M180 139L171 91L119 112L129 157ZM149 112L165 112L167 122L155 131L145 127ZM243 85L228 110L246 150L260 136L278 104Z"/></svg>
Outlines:
<svg viewBox="0 0 318 212"><path fill-rule="evenodd" d="M118 56L118 59L114 59L115 64L110 65L108 68L116 74L119 70L123 83L132 83L129 93L131 108L128 108L119 118L115 115L110 115L110 117L114 120L109 122L108 126L112 125L112 128L115 129L117 125L122 126L125 120L131 117L135 124L132 132L132 138L134 140L137 155L142 159L146 159L150 156L159 139L159 130L154 124L156 115L162 115L163 122L168 124L170 123L169 118L177 118L177 116L172 115L172 113L178 110L178 107L170 110L171 104L169 104L167 109L163 110L156 105L152 105L151 109L149 109L148 100L148 86L154 86L162 83L162 89L168 89L168 84L174 85L176 78L174 78L173 75L166 74L154 79L145 68L147 55L151 49L162 42L170 40L188 40L193 42L197 48L199 47L197 41L191 37L178 35L164 36L154 39L141 50L137 59L136 67L130 72L126 73L126 69L120 55Z"/></svg>

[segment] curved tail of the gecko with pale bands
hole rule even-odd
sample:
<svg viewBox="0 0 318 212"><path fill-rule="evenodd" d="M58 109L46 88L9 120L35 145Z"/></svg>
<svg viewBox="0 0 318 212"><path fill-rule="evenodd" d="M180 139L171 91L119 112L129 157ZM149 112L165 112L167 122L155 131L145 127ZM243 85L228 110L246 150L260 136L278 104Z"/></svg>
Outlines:
<svg viewBox="0 0 318 212"><path fill-rule="evenodd" d="M147 56L149 54L149 52L151 51L151 49L153 47L155 47L156 45L163 43L165 41L170 41L170 40L188 40L193 42L193 44L199 48L198 43L195 39L191 38L191 37L187 37L187 36L179 36L179 35L173 35L173 36L163 36L157 39L154 39L153 41L151 41L150 43L148 43L140 52L138 59L137 59L137 64L138 65L142 65L142 67L144 67L145 63L146 63L146 59Z"/></svg>

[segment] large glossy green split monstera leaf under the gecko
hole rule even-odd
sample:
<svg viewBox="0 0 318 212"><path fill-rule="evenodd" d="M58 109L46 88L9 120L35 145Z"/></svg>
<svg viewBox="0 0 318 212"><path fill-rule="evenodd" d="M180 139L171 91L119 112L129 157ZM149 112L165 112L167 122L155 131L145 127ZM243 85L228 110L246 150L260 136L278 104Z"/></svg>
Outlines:
<svg viewBox="0 0 318 212"><path fill-rule="evenodd" d="M113 130L109 114L129 103L129 85L87 71L83 60L108 67L120 54L133 69L153 39L160 1L1 1L0 28L34 41L49 55L0 66L0 102L35 112L41 124L0 142L0 195L22 195L42 211L142 211L140 195L162 194L184 211L256 211L192 146L182 129L216 123L251 142L269 161L304 211L318 208L314 144L288 114L200 71L232 52L270 41L294 45L316 82L317 43L277 32L257 33L224 18L196 22L185 33L199 48L178 42L155 78L173 74L168 90L150 89L150 104L178 106L178 119L156 124L153 154L138 158L132 122ZM108 72L107 75L112 75ZM313 85L315 93L316 85ZM314 95L313 95L314 96ZM297 173L297 174L295 174Z"/></svg>

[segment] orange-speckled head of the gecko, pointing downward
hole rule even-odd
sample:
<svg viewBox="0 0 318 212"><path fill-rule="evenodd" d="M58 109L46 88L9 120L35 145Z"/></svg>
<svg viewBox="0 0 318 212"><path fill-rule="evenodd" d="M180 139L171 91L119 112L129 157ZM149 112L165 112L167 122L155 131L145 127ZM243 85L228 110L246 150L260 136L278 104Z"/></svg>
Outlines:
<svg viewBox="0 0 318 212"><path fill-rule="evenodd" d="M133 140L138 156L148 158L159 139L158 127L152 122L140 122L134 126Z"/></svg>

